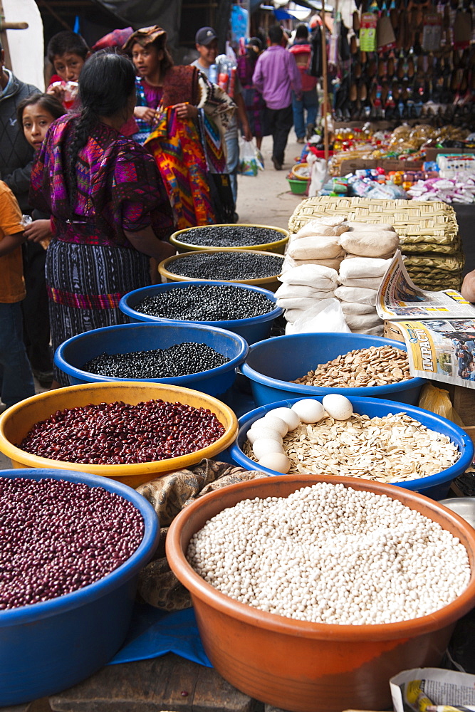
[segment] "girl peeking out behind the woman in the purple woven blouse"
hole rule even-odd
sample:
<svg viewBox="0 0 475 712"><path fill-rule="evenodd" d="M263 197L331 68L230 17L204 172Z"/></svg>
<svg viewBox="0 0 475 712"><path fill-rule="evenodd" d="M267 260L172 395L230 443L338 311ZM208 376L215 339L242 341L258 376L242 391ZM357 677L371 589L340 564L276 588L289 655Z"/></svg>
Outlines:
<svg viewBox="0 0 475 712"><path fill-rule="evenodd" d="M32 94L21 101L17 118L26 140L38 152L51 123L65 113L61 102L51 94ZM51 239L50 216L33 210L33 221L26 225L28 241L24 247L26 298L21 303L25 341L31 368L43 387L51 385L53 363L50 347L48 293L45 283L46 248Z"/></svg>

